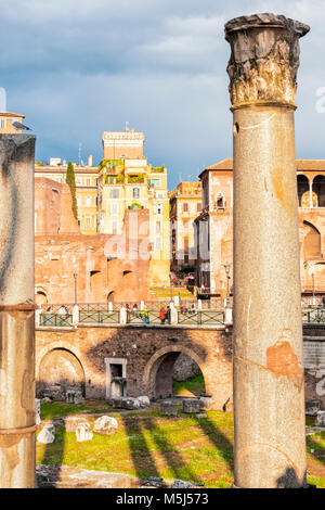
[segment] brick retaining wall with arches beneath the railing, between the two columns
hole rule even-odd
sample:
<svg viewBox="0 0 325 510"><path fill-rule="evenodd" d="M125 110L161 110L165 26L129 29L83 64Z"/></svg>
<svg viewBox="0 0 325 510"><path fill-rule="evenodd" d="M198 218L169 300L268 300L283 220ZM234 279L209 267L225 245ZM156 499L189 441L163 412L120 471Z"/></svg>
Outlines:
<svg viewBox="0 0 325 510"><path fill-rule="evenodd" d="M206 393L212 396L216 408L221 409L232 396L232 336L224 329L157 326L39 329L36 345L39 396L48 388L60 399L69 386L78 384L82 392L77 370L80 365L86 397L108 398L113 368L125 364L128 395L166 397L171 393L173 362L180 353L187 354L199 366ZM66 352L75 361L67 359Z"/></svg>

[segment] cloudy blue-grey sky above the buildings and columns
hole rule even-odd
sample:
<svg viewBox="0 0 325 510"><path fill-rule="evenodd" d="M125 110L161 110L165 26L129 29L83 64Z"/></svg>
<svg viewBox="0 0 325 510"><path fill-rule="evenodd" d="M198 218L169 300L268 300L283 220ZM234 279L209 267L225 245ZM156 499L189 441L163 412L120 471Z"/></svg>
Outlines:
<svg viewBox="0 0 325 510"><path fill-rule="evenodd" d="M231 156L223 25L257 12L311 26L301 39L297 156L325 158L325 0L0 0L0 87L8 110L25 114L34 128L43 162L77 161L81 143L84 162L92 153L98 163L102 132L123 130L126 122L145 132L148 161L168 167L170 188Z"/></svg>

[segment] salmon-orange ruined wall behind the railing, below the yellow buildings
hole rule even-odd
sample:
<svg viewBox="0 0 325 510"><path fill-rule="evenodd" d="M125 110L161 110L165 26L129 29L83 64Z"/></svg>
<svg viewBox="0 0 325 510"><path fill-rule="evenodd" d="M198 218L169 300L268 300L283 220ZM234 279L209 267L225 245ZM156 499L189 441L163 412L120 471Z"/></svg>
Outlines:
<svg viewBox="0 0 325 510"><path fill-rule="evenodd" d="M129 228L130 217L138 218L134 229ZM127 211L125 221L121 235L37 235L36 290L44 296L42 302L74 303L74 273L78 275L78 303L146 301L150 242L143 225L148 225L148 211Z"/></svg>

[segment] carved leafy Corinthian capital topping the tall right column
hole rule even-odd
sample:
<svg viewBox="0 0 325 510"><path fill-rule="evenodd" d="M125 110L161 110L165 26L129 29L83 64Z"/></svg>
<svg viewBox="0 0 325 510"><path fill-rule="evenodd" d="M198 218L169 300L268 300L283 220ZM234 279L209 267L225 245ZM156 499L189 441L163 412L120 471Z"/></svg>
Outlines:
<svg viewBox="0 0 325 510"><path fill-rule="evenodd" d="M295 106L299 38L309 29L303 23L269 13L225 24L232 51L226 71L233 107L256 102Z"/></svg>

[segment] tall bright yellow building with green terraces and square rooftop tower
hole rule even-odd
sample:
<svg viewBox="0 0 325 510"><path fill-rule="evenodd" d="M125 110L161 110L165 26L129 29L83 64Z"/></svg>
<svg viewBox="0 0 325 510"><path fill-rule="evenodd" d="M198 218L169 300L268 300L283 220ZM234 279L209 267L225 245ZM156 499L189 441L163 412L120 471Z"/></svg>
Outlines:
<svg viewBox="0 0 325 510"><path fill-rule="evenodd" d="M144 135L133 130L103 133L104 160L99 166L100 233L120 234L127 208L150 211L152 286L169 283L170 228L167 168L143 156Z"/></svg>

